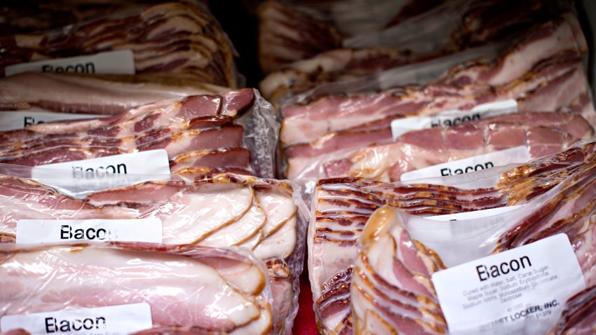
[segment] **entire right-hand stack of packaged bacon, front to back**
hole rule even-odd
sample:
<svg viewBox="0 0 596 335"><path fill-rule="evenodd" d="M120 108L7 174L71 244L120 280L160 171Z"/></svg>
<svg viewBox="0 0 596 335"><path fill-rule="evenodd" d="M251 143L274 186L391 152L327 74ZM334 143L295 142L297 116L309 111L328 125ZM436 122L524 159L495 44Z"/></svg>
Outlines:
<svg viewBox="0 0 596 335"><path fill-rule="evenodd" d="M311 204L318 331L592 334L596 111L576 15L416 2L363 34L334 1L259 13L278 170ZM524 245L553 241L530 268ZM559 252L575 267L548 263Z"/></svg>

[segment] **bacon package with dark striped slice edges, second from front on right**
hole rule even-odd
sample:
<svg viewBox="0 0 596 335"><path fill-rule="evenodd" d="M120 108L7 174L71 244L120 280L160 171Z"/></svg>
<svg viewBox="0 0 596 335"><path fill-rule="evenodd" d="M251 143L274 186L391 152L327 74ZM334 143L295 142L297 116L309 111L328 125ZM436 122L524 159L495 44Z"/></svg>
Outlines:
<svg viewBox="0 0 596 335"><path fill-rule="evenodd" d="M578 142L566 151L522 165L409 182L383 183L348 177L321 180L313 198L307 241L315 310L325 334L344 334L352 329L348 287L354 276L363 228L379 207L389 205L416 217L428 219L438 215L445 220L449 219L447 214L475 213L477 217L487 217L514 213L517 206L535 203L534 199L543 193L553 194L550 190L570 175L578 176L593 160L594 148L593 140ZM434 233L426 230L421 234ZM442 234L449 235L445 231ZM457 248L461 242L452 245Z"/></svg>

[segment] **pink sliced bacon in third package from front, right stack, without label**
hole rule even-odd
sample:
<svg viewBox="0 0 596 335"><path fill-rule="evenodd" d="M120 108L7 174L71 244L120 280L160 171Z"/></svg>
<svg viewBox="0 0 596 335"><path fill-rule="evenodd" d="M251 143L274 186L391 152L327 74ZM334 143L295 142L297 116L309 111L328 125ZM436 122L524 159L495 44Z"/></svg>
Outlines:
<svg viewBox="0 0 596 335"><path fill-rule="evenodd" d="M530 118L536 122L525 122ZM574 121L576 124L572 124ZM553 127L544 127L541 123ZM578 130L576 135L581 137L557 129L557 126ZM369 146L341 162L325 163L325 172L328 177L352 176L395 182L405 172L515 146L527 147L531 158L548 156L592 135L592 128L581 116L513 114L452 128L407 132L393 144Z"/></svg>

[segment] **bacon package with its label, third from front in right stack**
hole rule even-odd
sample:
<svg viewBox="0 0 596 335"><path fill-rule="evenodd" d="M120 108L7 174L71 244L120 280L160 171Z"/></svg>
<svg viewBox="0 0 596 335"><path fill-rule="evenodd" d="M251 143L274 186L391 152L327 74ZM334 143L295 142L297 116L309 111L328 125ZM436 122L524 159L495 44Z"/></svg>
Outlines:
<svg viewBox="0 0 596 335"><path fill-rule="evenodd" d="M591 102L585 102L591 109ZM429 126L439 123L443 115L426 121ZM314 144L288 146L287 176L304 186L308 198L316 182L323 178L363 177L398 182L461 174L524 163L567 149L594 134L592 125L581 115L567 111L530 111L494 117L476 112L469 115L475 121L449 128L409 130L395 139L392 139L395 131L392 135L390 128L348 130ZM425 121L424 117L408 118L402 125L408 120Z"/></svg>

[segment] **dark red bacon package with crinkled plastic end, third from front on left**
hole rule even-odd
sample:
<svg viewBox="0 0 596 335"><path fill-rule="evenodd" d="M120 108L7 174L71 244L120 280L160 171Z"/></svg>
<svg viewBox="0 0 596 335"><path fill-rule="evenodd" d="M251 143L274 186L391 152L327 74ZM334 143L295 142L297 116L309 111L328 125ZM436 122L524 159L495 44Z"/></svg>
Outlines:
<svg viewBox="0 0 596 335"><path fill-rule="evenodd" d="M162 158L150 159L151 165L126 173L152 175L207 167L273 177L278 127L271 105L256 90L245 88L145 104L104 118L0 132L0 163L95 171L95 165L105 166L103 160L135 161L138 155L163 151ZM72 161L76 163L63 166ZM53 165L58 163L62 165ZM147 170L158 164L161 170Z"/></svg>

